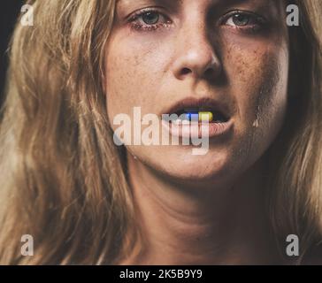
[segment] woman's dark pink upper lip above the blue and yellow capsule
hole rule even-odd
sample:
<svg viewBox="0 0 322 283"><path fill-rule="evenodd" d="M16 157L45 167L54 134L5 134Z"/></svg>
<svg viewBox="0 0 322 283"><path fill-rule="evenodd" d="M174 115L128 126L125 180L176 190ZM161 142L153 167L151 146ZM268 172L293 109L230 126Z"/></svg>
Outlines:
<svg viewBox="0 0 322 283"><path fill-rule="evenodd" d="M219 111L222 115L225 116L226 119L230 119L233 114L227 103L225 103L224 101L215 100L211 97L187 97L177 103L174 103L163 114L173 114L188 108L202 108L208 111Z"/></svg>

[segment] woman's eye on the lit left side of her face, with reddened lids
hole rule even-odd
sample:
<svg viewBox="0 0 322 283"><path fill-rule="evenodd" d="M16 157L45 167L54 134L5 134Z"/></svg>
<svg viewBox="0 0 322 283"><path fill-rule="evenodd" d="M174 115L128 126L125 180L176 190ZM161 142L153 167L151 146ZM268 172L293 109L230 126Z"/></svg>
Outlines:
<svg viewBox="0 0 322 283"><path fill-rule="evenodd" d="M129 21L135 31L154 31L160 27L169 27L171 24L171 20L156 8L136 11Z"/></svg>

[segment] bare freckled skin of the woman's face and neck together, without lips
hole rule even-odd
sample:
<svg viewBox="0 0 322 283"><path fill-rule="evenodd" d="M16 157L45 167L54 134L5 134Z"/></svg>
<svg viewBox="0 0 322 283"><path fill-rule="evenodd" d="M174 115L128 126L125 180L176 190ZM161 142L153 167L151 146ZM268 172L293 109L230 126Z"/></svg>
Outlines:
<svg viewBox="0 0 322 283"><path fill-rule="evenodd" d="M106 46L114 129L118 113L141 106L142 115L161 115L187 96L225 100L234 110L233 134L211 139L202 157L182 145L126 146L144 242L140 256L119 264L283 264L264 194L265 152L288 106L288 29L276 3L119 1ZM148 7L157 28L147 17L127 18ZM246 19L233 20L237 11Z"/></svg>

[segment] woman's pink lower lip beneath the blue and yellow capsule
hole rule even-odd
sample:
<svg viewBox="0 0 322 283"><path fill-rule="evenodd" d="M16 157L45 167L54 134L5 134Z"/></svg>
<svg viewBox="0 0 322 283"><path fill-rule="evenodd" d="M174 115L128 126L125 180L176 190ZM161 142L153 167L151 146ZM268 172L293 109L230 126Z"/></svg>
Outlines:
<svg viewBox="0 0 322 283"><path fill-rule="evenodd" d="M191 123L190 125L176 125L162 120L162 126L173 136L181 138L216 137L227 134L233 128L233 120L224 123L209 123L208 129L204 124Z"/></svg>

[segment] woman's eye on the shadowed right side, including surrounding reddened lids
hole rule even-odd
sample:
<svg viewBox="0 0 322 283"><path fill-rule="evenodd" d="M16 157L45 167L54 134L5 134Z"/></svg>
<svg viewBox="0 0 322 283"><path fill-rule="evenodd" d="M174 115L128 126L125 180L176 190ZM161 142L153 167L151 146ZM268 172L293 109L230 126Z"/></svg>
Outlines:
<svg viewBox="0 0 322 283"><path fill-rule="evenodd" d="M238 28L245 32L258 32L264 29L267 21L252 11L230 11L223 17L222 25Z"/></svg>

